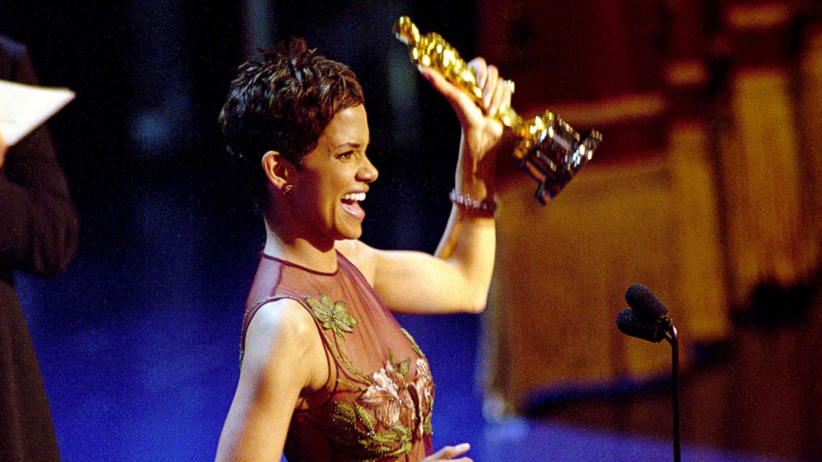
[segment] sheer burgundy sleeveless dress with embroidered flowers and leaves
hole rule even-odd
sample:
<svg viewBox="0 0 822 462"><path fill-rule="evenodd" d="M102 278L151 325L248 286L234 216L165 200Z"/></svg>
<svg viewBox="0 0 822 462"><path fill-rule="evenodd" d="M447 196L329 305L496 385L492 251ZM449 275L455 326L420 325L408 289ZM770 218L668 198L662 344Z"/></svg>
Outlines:
<svg viewBox="0 0 822 462"><path fill-rule="evenodd" d="M301 460L421 460L433 452L434 383L428 362L365 277L337 252L322 273L261 254L247 299L245 333L262 305L292 298L314 317L329 381L295 409L284 454Z"/></svg>

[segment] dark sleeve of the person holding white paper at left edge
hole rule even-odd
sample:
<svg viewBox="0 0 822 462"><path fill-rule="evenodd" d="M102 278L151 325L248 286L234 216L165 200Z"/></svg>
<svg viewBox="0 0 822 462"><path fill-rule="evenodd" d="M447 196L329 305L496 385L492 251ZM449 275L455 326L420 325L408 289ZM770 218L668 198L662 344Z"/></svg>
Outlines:
<svg viewBox="0 0 822 462"><path fill-rule="evenodd" d="M12 57L11 80L37 82L25 49ZM57 275L74 256L77 221L51 138L39 127L8 149L0 171L0 266Z"/></svg>

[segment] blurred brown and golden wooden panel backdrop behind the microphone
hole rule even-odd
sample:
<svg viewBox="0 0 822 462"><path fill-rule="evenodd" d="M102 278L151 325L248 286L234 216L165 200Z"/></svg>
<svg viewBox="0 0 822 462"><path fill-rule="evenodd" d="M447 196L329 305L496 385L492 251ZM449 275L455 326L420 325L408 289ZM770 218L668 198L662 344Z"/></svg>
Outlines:
<svg viewBox="0 0 822 462"><path fill-rule="evenodd" d="M761 284L818 270L819 7L806 2L487 0L480 51L603 147L549 206L501 185L483 359L493 409L668 371L617 332L628 285L667 303L687 353L727 338ZM761 45L761 46L760 46Z"/></svg>

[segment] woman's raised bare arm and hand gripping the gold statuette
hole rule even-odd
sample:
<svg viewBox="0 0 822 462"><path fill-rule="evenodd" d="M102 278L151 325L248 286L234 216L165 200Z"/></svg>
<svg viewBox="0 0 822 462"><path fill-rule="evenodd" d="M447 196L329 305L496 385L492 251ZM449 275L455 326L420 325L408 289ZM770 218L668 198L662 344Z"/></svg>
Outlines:
<svg viewBox="0 0 822 462"><path fill-rule="evenodd" d="M510 149L493 116L510 104L510 89L496 67L482 58L469 63L483 88L478 106L462 90L430 68L420 72L450 103L462 127L455 194L492 204L496 155ZM372 282L383 303L395 312L480 312L485 307L494 264L493 214L455 204L434 256L422 252L381 251L349 241L338 248Z"/></svg>

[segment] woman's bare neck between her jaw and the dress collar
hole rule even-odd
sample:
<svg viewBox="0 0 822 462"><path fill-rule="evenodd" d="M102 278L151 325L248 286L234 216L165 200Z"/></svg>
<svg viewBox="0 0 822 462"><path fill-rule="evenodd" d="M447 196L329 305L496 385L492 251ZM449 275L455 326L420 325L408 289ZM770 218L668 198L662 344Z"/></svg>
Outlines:
<svg viewBox="0 0 822 462"><path fill-rule="evenodd" d="M330 244L316 245L306 238L298 237L298 233L289 233L292 227L278 226L278 223L282 223L278 219L266 216L265 222L266 247L263 248L263 252L266 255L323 273L333 273L337 270L337 254L333 241Z"/></svg>

